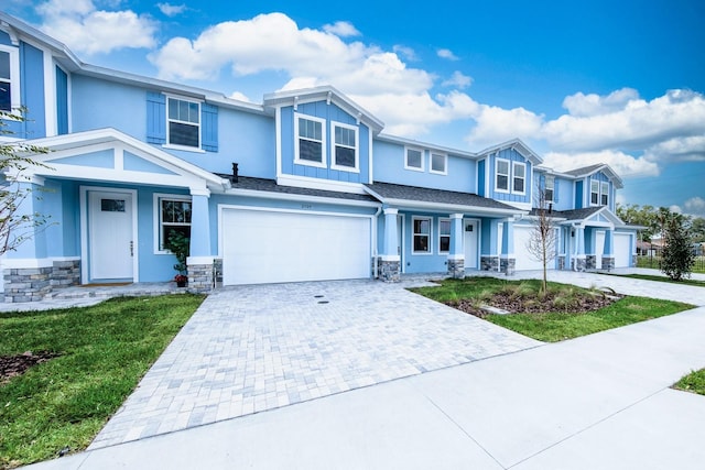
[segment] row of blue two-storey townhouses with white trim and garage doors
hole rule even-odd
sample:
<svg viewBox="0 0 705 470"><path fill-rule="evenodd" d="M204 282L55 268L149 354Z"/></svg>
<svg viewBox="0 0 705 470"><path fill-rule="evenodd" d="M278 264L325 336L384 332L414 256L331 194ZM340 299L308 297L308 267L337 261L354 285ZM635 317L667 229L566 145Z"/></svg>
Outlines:
<svg viewBox="0 0 705 470"><path fill-rule="evenodd" d="M68 285L165 282L171 230L191 238L189 286L540 267L525 250L538 188L556 222L552 269L632 265L607 165L558 173L519 140L479 153L384 134L333 87L261 105L82 63L0 13L0 107L51 153L25 214L56 222L3 260L8 302Z"/></svg>

